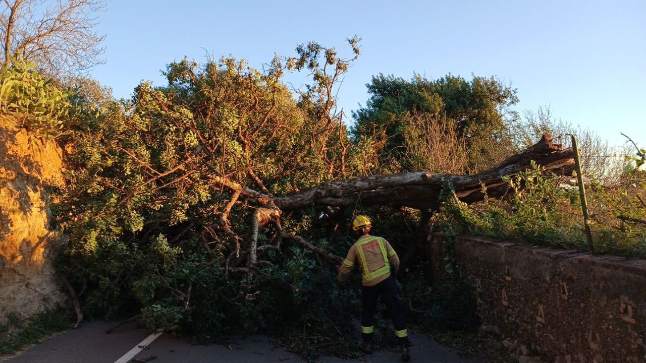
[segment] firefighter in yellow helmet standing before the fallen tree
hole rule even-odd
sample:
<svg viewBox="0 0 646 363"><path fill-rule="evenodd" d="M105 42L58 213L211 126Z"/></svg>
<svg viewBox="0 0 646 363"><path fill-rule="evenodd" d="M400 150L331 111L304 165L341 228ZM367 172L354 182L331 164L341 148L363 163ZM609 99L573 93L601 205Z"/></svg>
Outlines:
<svg viewBox="0 0 646 363"><path fill-rule="evenodd" d="M364 353L372 353L372 338L375 330L375 311L377 299L388 308L388 314L393 320L395 334L401 347L401 358L404 362L410 360L408 329L404 322L404 311L397 297L398 284L395 280L399 269L399 257L384 238L371 236L372 223L366 216L357 216L352 221L352 229L359 238L348 251L348 256L338 267L339 282L344 284L355 264L359 264L362 273L361 289L361 337L359 348ZM392 265L392 267L391 267ZM394 270L394 271L392 271ZM392 272L392 273L391 273ZM394 273L394 275L393 275Z"/></svg>

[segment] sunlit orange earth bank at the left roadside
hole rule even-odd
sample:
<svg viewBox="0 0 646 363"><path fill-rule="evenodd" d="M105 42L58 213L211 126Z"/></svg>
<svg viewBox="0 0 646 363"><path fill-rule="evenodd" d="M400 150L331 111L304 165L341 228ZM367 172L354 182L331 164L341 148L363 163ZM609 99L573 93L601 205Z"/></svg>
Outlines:
<svg viewBox="0 0 646 363"><path fill-rule="evenodd" d="M51 231L45 185L60 185L61 150L0 116L0 321L65 300L52 260L63 247Z"/></svg>

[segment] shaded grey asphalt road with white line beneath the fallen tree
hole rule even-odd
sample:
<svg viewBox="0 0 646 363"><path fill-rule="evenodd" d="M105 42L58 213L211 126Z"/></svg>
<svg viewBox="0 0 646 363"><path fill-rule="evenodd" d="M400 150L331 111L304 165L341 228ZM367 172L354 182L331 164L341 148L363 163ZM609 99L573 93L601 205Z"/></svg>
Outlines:
<svg viewBox="0 0 646 363"><path fill-rule="evenodd" d="M231 344L191 345L190 338L174 337L172 334L155 334L146 329L136 329L136 324L127 324L110 334L105 331L114 322L86 322L75 330L65 331L30 346L13 357L0 358L8 363L296 363L307 362L302 357L275 347L262 335L232 337ZM152 340L152 341L151 341ZM454 349L439 346L425 335L413 332L412 362L429 363L475 363L461 358ZM134 360L133 360L134 359ZM344 360L337 357L322 357L321 363L337 362L399 362L399 354L377 351L361 360Z"/></svg>

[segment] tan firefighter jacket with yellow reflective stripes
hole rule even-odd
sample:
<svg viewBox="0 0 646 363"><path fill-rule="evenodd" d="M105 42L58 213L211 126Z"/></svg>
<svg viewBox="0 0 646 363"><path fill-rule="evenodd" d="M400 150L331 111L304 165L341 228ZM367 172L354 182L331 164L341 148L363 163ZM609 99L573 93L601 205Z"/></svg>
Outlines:
<svg viewBox="0 0 646 363"><path fill-rule="evenodd" d="M390 276L390 265L397 273L399 257L385 238L365 235L350 247L339 269L339 282L348 280L355 264L361 268L362 284L373 286Z"/></svg>

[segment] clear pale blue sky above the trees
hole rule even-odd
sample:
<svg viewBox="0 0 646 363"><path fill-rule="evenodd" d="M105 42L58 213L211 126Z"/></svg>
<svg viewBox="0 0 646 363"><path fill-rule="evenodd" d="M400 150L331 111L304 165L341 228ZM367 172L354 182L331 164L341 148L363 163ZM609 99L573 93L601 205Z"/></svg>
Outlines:
<svg viewBox="0 0 646 363"><path fill-rule="evenodd" d="M365 105L374 74L493 75L518 88L519 110L550 105L610 143L623 143L623 131L646 147L644 0L113 0L99 17L107 63L92 75L116 97L141 80L164 85L160 70L184 56L231 54L260 67L311 40L349 52L344 39L357 34L362 56L339 94L346 112Z"/></svg>

